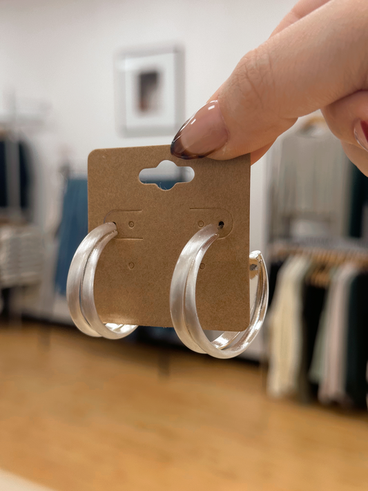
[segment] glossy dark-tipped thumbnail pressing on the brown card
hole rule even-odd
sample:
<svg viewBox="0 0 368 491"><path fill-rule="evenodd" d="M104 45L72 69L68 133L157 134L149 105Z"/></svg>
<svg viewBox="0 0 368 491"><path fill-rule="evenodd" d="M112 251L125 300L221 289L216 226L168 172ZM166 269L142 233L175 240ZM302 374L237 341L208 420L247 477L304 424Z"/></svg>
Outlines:
<svg viewBox="0 0 368 491"><path fill-rule="evenodd" d="M171 153L182 159L200 159L220 150L228 139L220 105L211 101L183 124L171 143Z"/></svg>

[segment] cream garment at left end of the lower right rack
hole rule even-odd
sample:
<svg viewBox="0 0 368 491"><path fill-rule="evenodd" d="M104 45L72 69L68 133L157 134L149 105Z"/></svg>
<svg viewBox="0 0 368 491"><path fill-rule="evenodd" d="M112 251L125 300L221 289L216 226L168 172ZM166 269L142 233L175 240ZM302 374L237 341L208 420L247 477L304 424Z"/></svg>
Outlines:
<svg viewBox="0 0 368 491"><path fill-rule="evenodd" d="M289 258L280 269L278 289L269 313L270 359L268 392L273 396L293 394L298 387L302 358L302 287L310 260Z"/></svg>

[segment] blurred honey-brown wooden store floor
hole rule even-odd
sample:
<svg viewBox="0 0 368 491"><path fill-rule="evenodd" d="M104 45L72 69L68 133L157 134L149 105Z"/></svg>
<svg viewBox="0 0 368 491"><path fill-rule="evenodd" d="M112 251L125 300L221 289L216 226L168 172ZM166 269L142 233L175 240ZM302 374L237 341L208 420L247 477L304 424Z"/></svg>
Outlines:
<svg viewBox="0 0 368 491"><path fill-rule="evenodd" d="M239 361L1 327L0 468L57 491L367 491L367 416L263 385Z"/></svg>

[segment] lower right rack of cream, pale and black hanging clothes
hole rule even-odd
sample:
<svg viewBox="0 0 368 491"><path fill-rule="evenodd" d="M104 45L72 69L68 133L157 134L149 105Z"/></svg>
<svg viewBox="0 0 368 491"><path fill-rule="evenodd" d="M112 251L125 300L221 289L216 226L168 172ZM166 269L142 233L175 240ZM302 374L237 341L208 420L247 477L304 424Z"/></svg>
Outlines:
<svg viewBox="0 0 368 491"><path fill-rule="evenodd" d="M303 240L270 249L269 394L367 409L367 244Z"/></svg>

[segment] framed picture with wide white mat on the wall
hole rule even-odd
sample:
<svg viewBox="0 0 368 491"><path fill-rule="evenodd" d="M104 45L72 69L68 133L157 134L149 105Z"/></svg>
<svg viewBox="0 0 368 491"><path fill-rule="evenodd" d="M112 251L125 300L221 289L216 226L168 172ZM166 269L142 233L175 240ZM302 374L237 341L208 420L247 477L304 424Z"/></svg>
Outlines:
<svg viewBox="0 0 368 491"><path fill-rule="evenodd" d="M124 136L173 135L184 121L184 52L122 52L115 64L117 129Z"/></svg>

